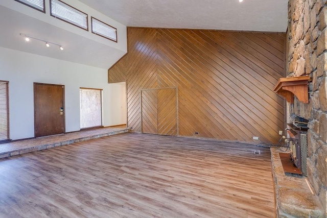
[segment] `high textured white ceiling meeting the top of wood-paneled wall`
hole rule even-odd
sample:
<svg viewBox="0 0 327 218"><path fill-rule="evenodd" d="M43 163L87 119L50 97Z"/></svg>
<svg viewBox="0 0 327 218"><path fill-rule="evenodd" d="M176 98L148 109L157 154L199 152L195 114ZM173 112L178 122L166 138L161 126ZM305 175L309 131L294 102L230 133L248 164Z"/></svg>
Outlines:
<svg viewBox="0 0 327 218"><path fill-rule="evenodd" d="M288 0L80 0L128 27L286 32Z"/></svg>

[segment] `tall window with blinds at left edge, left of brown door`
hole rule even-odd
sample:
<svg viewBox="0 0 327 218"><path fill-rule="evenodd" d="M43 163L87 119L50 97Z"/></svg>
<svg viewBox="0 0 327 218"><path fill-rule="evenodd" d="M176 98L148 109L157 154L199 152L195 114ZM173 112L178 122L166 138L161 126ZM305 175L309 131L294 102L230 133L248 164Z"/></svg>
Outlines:
<svg viewBox="0 0 327 218"><path fill-rule="evenodd" d="M0 81L0 141L9 139L9 82Z"/></svg>

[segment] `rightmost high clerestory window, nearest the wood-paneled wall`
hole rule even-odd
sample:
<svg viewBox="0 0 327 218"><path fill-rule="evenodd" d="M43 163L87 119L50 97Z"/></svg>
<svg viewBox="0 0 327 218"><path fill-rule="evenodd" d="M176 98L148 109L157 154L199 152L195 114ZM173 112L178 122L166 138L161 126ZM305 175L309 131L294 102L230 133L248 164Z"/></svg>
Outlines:
<svg viewBox="0 0 327 218"><path fill-rule="evenodd" d="M117 29L106 23L91 17L92 33L117 42Z"/></svg>

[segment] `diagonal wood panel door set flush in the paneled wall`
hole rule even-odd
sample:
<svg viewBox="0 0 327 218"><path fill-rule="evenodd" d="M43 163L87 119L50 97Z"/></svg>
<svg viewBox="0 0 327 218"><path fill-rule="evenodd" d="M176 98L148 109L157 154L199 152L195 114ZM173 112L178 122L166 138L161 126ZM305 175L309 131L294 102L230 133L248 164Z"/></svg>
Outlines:
<svg viewBox="0 0 327 218"><path fill-rule="evenodd" d="M142 133L178 135L176 88L141 91Z"/></svg>

